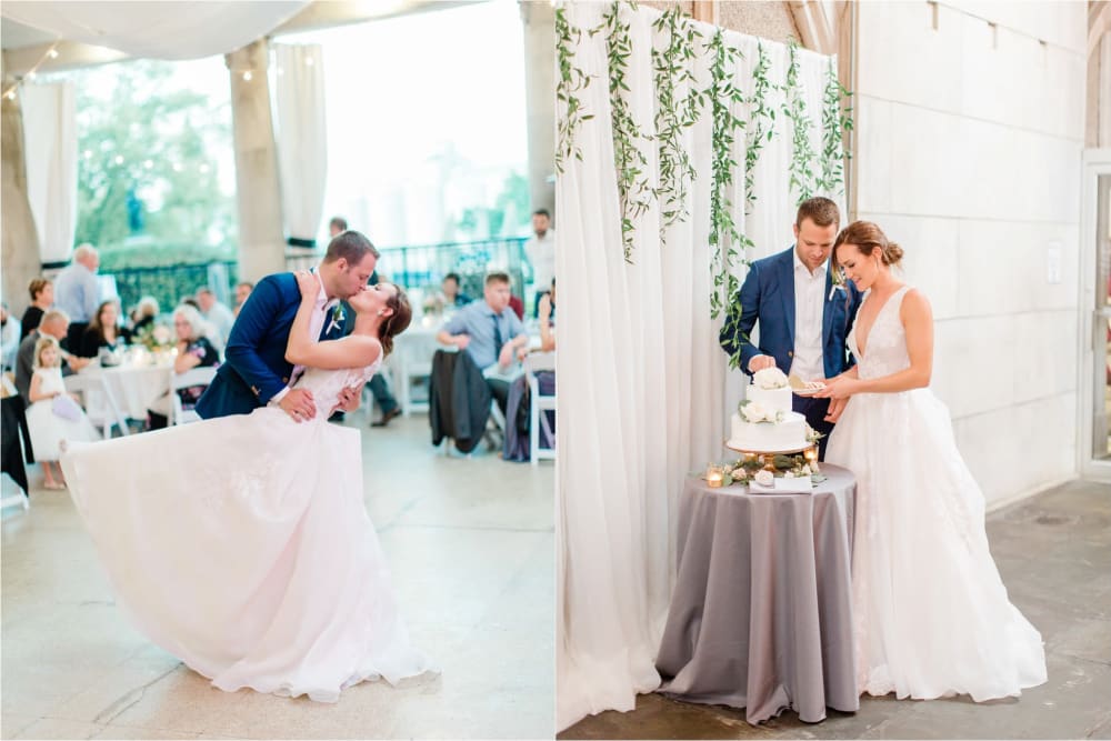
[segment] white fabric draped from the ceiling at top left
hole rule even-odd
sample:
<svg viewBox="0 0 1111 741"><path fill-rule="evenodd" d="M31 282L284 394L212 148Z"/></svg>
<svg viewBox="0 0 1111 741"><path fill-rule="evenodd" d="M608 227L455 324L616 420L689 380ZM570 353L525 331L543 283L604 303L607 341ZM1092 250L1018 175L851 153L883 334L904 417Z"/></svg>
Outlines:
<svg viewBox="0 0 1111 741"><path fill-rule="evenodd" d="M17 2L4 18L52 33L149 59L200 59L260 39L309 0L213 2Z"/></svg>

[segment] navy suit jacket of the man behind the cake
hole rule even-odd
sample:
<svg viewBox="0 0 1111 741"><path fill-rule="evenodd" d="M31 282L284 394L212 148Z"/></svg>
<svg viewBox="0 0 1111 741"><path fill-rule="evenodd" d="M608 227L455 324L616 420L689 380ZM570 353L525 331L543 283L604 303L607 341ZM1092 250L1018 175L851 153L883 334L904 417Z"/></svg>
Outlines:
<svg viewBox="0 0 1111 741"><path fill-rule="evenodd" d="M794 246L791 249L757 260L741 286L739 321L730 317L721 328L719 341L732 357L741 350L741 369L749 372L754 356L771 356L784 373L794 359ZM860 307L860 291L849 281L845 288L830 294L832 272L825 272L822 294L822 360L825 378L833 378L853 363L845 338ZM760 344L753 344L752 328L760 323ZM803 379L809 381L811 379Z"/></svg>

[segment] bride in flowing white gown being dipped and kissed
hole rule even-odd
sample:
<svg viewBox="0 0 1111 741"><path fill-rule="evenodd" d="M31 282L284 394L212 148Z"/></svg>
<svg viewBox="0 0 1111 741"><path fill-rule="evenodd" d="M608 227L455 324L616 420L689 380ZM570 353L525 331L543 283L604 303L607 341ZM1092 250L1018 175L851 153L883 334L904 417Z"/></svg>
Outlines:
<svg viewBox="0 0 1111 741"><path fill-rule="evenodd" d="M298 387L312 420L261 408L72 444L61 462L120 605L152 641L221 690L336 702L357 682L431 669L367 515L359 432L327 421L411 314L397 287L371 287L349 300L350 337L313 343L320 286L298 281L288 357L311 367Z"/></svg>

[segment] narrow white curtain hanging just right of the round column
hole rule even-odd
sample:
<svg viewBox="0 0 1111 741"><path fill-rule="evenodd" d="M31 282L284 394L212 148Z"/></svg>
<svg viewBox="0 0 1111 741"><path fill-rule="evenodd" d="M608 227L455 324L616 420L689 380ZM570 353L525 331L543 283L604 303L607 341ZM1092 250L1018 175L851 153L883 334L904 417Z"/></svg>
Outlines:
<svg viewBox="0 0 1111 741"><path fill-rule="evenodd" d="M324 209L328 129L320 44L273 44L277 57L277 144L286 234L313 239Z"/></svg>

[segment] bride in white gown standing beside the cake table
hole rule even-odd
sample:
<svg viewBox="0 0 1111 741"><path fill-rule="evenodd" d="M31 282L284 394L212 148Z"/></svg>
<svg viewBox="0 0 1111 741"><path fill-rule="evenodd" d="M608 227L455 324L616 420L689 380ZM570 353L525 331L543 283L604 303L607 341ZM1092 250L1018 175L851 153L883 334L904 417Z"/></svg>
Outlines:
<svg viewBox="0 0 1111 741"><path fill-rule="evenodd" d="M847 227L833 258L867 291L857 366L819 395L850 398L825 460L858 480L852 554L860 692L975 701L1045 681L1039 632L1011 604L988 550L984 499L927 388L933 319L891 272L902 257L873 223Z"/></svg>

